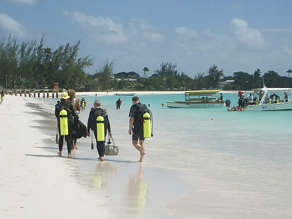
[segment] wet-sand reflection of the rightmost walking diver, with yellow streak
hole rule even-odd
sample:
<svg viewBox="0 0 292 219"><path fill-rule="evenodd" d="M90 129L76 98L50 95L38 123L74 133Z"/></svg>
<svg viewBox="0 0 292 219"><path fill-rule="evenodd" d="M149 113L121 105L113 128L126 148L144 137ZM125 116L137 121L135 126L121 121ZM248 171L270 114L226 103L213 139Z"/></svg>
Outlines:
<svg viewBox="0 0 292 219"><path fill-rule="evenodd" d="M140 164L138 173L129 178L128 183L125 183L125 216L144 218L148 188L147 182L143 180L143 164Z"/></svg>

